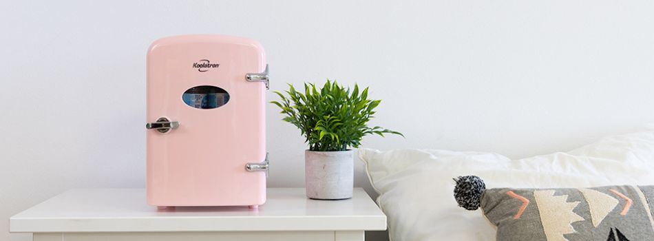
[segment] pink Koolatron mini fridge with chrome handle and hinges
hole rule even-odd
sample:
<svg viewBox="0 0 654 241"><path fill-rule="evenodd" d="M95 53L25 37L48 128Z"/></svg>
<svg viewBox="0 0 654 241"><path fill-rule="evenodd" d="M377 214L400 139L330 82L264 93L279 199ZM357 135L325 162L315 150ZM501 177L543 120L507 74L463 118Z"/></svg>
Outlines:
<svg viewBox="0 0 654 241"><path fill-rule="evenodd" d="M147 202L249 206L266 202L265 97L260 43L171 36L147 52Z"/></svg>

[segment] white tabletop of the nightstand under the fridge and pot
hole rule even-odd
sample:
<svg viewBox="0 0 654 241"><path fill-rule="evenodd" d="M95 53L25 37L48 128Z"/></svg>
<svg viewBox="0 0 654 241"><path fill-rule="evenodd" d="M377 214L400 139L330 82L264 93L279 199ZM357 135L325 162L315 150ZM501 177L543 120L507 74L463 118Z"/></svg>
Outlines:
<svg viewBox="0 0 654 241"><path fill-rule="evenodd" d="M304 188L269 188L259 209L174 207L145 202L145 189L72 189L10 219L11 232L338 231L386 230L368 193L310 200Z"/></svg>

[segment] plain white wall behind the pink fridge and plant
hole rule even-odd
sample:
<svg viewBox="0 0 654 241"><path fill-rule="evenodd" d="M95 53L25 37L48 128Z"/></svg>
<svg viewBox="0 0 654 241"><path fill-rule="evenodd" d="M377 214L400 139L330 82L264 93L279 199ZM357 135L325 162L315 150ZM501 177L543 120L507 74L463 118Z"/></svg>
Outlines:
<svg viewBox="0 0 654 241"><path fill-rule="evenodd" d="M0 229L65 189L143 187L145 51L162 36L257 39L271 90L370 85L383 100L373 124L407 138L366 147L523 157L654 121L652 12L652 1L1 1ZM304 143L280 118L269 105L268 180L302 187Z"/></svg>

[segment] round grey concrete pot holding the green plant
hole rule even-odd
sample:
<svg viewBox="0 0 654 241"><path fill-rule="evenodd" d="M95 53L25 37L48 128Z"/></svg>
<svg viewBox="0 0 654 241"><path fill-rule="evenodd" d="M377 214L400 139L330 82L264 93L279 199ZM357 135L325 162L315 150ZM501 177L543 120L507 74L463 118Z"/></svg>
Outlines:
<svg viewBox="0 0 654 241"><path fill-rule="evenodd" d="M311 199L352 198L353 151L304 151L306 196Z"/></svg>

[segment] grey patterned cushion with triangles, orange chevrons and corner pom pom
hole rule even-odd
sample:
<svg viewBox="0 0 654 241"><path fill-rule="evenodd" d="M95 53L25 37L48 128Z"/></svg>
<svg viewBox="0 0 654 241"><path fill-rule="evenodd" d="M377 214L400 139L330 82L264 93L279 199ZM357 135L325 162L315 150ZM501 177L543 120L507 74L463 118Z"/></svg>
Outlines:
<svg viewBox="0 0 654 241"><path fill-rule="evenodd" d="M481 178L454 179L458 205L497 226L497 240L654 240L654 186L485 189Z"/></svg>

